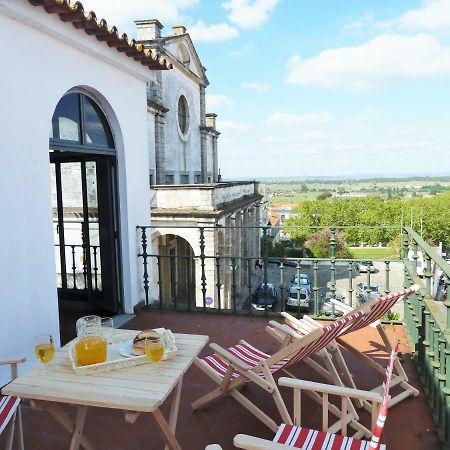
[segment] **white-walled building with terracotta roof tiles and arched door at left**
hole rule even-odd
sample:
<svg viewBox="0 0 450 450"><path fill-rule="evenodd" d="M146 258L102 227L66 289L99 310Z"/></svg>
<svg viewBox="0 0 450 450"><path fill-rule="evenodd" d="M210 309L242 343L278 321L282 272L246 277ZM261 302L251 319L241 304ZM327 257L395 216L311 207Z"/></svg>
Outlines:
<svg viewBox="0 0 450 450"><path fill-rule="evenodd" d="M35 335L59 340L51 166L87 174L97 167L101 198L87 204L87 187L81 180L78 187L85 230L95 209L104 225L102 257L111 264L104 289L115 293L105 306L132 311L140 301L136 226L150 223L147 84L156 68L171 65L79 5L56 0L0 0L0 37L8 43L0 71L0 358L26 352L32 364ZM58 191L63 222L69 194ZM5 377L0 372L0 384Z"/></svg>

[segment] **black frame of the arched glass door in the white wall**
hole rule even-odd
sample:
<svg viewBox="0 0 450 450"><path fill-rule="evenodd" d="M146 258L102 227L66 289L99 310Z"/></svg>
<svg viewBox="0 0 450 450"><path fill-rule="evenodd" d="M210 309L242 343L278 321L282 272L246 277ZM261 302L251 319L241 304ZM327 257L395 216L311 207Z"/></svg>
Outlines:
<svg viewBox="0 0 450 450"><path fill-rule="evenodd" d="M83 222L82 222L82 241L83 241L83 256L86 258L83 261L83 268L85 271L87 303L96 308L107 309L111 312L123 311L123 282L122 282L122 254L120 245L120 202L119 202L119 186L118 186L118 168L117 156L114 146L114 136L111 132L111 127L107 123L106 114L101 110L97 102L88 95L70 91L67 95L78 96L78 114L79 114L79 142L68 141L59 138L58 117L54 122L52 119L52 126L56 125L58 130L57 138L51 137L49 140L50 148L50 162L55 163L56 173L56 191L57 191L57 207L58 207L58 224L60 232L60 241L64 244L64 212L63 212L63 198L62 198L62 180L60 165L66 162L80 162L81 163L81 182L82 182L82 204L83 204ZM66 96L64 96L66 97ZM64 97L62 99L64 99ZM86 97L91 102L96 104L99 111L101 111L100 118L103 115L102 125L106 133L109 133L110 140L107 145L103 143L95 144L88 141L86 134L85 123L85 100ZM62 100L61 99L61 100ZM57 109L57 108L56 108ZM64 114L63 114L64 116ZM55 132L55 128L53 128ZM86 184L86 162L96 162L96 180L97 180L97 202L98 202L98 220L99 220L99 246L100 246L100 267L102 267L102 292L103 298L95 296L92 286L92 260L89 239L89 206L88 206L88 192ZM56 170L56 165L59 165L59 170ZM99 181L100 180L100 181ZM99 188L99 184L101 187ZM100 207L102 204L102 207ZM101 222L107 227L102 227ZM62 225L62 226L61 226ZM102 230L100 230L102 228ZM62 233L62 235L61 235ZM61 242L60 242L61 244ZM67 261L64 245L60 245L60 261L61 261L61 288L58 288L58 298L60 298L60 289L64 289L67 293L69 291L67 286ZM95 255L94 255L95 257ZM103 261L102 261L103 260ZM104 262L106 261L106 262ZM63 265L64 264L64 265ZM64 267L64 270L63 270ZM105 270L104 270L105 268ZM96 264L94 263L94 271ZM65 274L63 275L63 272ZM106 274L109 272L108 274ZM96 275L96 273L95 273ZM109 276L109 283L103 282ZM106 288L106 290L105 290ZM75 291L75 290L73 290ZM81 289L80 289L81 291ZM77 298L76 294L73 297ZM97 292L98 293L98 292ZM70 296L69 296L70 297ZM80 295L78 295L80 298Z"/></svg>

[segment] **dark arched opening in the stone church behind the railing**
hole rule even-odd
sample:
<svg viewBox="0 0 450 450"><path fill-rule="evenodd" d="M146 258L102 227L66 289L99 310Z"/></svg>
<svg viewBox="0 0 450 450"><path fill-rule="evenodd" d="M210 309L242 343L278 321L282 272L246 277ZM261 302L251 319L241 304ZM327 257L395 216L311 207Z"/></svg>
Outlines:
<svg viewBox="0 0 450 450"><path fill-rule="evenodd" d="M195 305L194 251L186 239L174 234L157 239L160 301L165 306L188 310Z"/></svg>

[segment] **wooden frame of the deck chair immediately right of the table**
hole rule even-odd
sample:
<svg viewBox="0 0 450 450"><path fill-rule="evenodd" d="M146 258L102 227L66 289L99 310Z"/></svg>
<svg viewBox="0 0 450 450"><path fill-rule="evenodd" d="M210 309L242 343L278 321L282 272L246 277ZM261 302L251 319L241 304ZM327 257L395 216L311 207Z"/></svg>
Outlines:
<svg viewBox="0 0 450 450"><path fill-rule="evenodd" d="M370 305L365 305L364 308L362 308L363 313L368 312L369 310ZM356 317L350 319L347 324L352 323L355 319ZM193 402L192 408L194 410L202 408L212 401L218 400L226 395L230 395L271 430L276 431L278 429L277 423L240 392L241 388L247 382L252 381L272 396L283 422L292 424L291 417L287 411L286 405L284 404L270 368L285 359L289 359L291 362L296 362L296 358L299 357L301 350L305 349L309 345L311 345L310 348L313 348L315 344L318 344L320 337L323 335L323 328L316 328L307 335L297 335L295 339L286 339L285 343L278 352L272 356L269 356L267 359L260 361L254 367L245 364L227 349L224 349L217 344L210 344L210 347L214 350L215 355L220 357L221 360L226 363L228 369L225 376L221 377L202 359L197 358L195 360L195 364L210 378L212 378L219 385L219 387ZM240 344L249 345L245 341L240 341ZM320 350L322 350L322 348L317 348L314 351ZM239 376L235 379L233 379L234 372L239 373ZM263 376L261 376L261 374ZM337 413L340 417L338 411L332 410L331 412ZM361 435L367 435L367 433L370 434L370 430L367 430L358 423L359 417L354 408L351 409L350 413L346 417L346 420L351 423L352 427L359 430Z"/></svg>

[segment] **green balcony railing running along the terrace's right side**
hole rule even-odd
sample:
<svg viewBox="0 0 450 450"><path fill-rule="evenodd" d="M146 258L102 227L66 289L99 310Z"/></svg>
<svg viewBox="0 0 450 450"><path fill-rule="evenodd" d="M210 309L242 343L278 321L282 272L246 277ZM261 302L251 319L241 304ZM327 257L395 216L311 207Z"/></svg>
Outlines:
<svg viewBox="0 0 450 450"><path fill-rule="evenodd" d="M408 254L412 258L408 258ZM444 448L450 448L450 302L434 300L442 273L448 292L450 264L413 229L403 229L405 286L417 283L420 291L405 302L404 324L414 348L417 371ZM412 261L411 261L412 259ZM423 264L423 274L418 270Z"/></svg>

